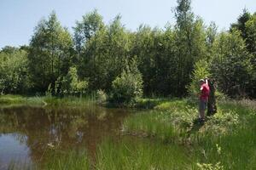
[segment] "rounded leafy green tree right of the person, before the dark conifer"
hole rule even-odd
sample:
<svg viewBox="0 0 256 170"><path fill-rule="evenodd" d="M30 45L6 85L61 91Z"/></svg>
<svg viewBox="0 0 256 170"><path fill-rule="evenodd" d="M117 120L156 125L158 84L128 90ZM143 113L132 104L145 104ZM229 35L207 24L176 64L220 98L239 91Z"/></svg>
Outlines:
<svg viewBox="0 0 256 170"><path fill-rule="evenodd" d="M210 67L218 87L233 97L246 96L253 65L240 32L222 33L215 45L218 50L210 61Z"/></svg>

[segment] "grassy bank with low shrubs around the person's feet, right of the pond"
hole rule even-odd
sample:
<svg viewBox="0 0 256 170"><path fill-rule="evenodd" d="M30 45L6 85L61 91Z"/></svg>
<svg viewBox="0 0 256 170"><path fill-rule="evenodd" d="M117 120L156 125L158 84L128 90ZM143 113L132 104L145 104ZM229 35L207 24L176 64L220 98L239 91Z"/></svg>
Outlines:
<svg viewBox="0 0 256 170"><path fill-rule="evenodd" d="M245 99L218 102L218 113L201 124L196 122L195 103L188 99L166 101L151 111L127 117L124 132L156 139L160 144L189 146L197 162L195 169L253 169L255 105Z"/></svg>

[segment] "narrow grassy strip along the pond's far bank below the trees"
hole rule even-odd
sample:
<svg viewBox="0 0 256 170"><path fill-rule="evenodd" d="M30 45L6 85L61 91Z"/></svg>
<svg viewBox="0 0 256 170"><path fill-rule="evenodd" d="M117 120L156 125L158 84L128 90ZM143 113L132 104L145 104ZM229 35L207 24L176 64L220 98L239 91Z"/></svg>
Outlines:
<svg viewBox="0 0 256 170"><path fill-rule="evenodd" d="M84 105L101 105L107 108L124 108L124 109L137 109L137 110L152 110L154 107L169 107L170 102L182 99L171 99L171 98L142 98L137 99L136 103L132 105L122 105L110 103L108 101L101 102L97 101L94 94L78 96L26 96L17 94L4 94L0 95L0 105L36 105L36 106L84 106ZM188 100L188 99L186 99ZM192 102L188 102L189 105L195 105Z"/></svg>

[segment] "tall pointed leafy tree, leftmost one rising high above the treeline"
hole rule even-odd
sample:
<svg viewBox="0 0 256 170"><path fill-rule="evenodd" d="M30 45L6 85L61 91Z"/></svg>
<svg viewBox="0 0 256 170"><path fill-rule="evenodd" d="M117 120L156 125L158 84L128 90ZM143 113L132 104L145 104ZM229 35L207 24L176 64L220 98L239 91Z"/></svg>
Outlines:
<svg viewBox="0 0 256 170"><path fill-rule="evenodd" d="M73 40L53 12L38 23L30 42L28 69L34 90L44 92L49 83L67 74L73 61Z"/></svg>

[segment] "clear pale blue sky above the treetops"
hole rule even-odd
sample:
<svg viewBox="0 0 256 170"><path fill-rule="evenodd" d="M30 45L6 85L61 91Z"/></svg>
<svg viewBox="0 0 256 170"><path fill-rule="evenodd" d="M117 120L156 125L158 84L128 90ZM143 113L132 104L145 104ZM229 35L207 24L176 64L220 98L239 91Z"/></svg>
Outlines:
<svg viewBox="0 0 256 170"><path fill-rule="evenodd" d="M106 23L121 14L122 23L136 31L140 24L164 27L174 24L176 0L0 0L0 48L28 44L38 20L55 10L62 26L72 32L76 20L94 8ZM206 24L214 21L218 30L228 29L243 8L256 12L255 0L192 0L192 10Z"/></svg>

